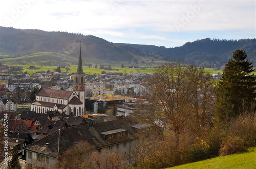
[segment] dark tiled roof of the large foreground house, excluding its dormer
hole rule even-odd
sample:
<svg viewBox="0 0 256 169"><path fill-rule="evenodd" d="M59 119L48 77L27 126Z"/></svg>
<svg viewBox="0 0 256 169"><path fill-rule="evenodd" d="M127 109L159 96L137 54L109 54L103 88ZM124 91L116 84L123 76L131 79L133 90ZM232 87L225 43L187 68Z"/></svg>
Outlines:
<svg viewBox="0 0 256 169"><path fill-rule="evenodd" d="M118 137L117 139L103 139L99 132L115 130L123 128L128 131L127 135ZM70 146L78 143L80 140L87 141L93 145L95 149L106 147L109 145L132 140L134 130L127 125L124 119L111 122L102 122L89 127L88 125L80 125L59 129L48 136L26 146L24 149L28 151L45 154L54 158L58 158Z"/></svg>

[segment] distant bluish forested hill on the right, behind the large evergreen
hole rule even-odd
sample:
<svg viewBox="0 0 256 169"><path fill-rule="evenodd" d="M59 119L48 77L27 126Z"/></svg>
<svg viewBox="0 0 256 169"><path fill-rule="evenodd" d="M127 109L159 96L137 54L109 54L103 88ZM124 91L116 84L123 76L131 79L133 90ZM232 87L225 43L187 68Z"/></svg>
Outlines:
<svg viewBox="0 0 256 169"><path fill-rule="evenodd" d="M256 64L256 40L220 40L202 39L187 42L183 46L165 48L164 46L137 45L116 43L116 45L131 45L141 51L141 55L154 56L165 61L184 62L201 67L220 68L232 58L233 51L244 49L248 60Z"/></svg>

